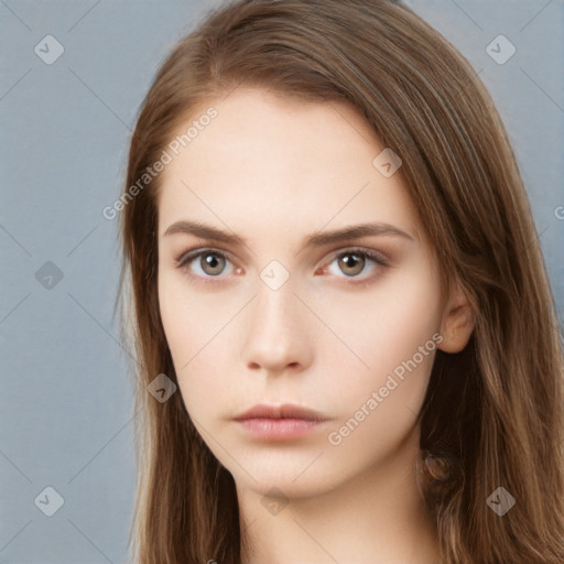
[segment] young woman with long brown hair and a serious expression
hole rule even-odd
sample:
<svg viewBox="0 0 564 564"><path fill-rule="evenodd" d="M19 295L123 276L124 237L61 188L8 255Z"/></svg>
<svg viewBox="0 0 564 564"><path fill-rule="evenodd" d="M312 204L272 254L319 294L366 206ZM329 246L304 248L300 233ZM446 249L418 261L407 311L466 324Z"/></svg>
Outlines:
<svg viewBox="0 0 564 564"><path fill-rule="evenodd" d="M122 200L135 562L563 562L527 196L488 93L411 10L209 14L143 102Z"/></svg>

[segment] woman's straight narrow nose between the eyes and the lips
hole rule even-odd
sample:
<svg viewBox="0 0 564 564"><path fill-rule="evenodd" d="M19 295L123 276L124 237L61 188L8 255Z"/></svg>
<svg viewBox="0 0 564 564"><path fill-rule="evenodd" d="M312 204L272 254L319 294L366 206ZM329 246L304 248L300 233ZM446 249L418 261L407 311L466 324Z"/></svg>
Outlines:
<svg viewBox="0 0 564 564"><path fill-rule="evenodd" d="M246 318L242 358L247 368L265 375L305 370L314 356L311 313L290 281L278 290L259 286Z"/></svg>

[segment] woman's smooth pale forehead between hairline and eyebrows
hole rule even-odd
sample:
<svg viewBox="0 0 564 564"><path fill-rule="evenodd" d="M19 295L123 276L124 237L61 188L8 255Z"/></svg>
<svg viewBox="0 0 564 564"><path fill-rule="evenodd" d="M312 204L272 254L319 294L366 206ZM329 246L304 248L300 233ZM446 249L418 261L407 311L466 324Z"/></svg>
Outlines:
<svg viewBox="0 0 564 564"><path fill-rule="evenodd" d="M209 107L216 117L171 153L162 173L160 234L194 218L262 234L415 221L401 169L390 177L379 172L373 160L386 148L350 106L239 89L200 106L176 134Z"/></svg>

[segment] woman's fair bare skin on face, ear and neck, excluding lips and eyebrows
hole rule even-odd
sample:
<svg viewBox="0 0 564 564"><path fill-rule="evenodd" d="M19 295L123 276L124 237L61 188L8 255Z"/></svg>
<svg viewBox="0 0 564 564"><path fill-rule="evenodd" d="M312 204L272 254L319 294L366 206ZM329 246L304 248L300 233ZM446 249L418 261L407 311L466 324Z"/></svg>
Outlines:
<svg viewBox="0 0 564 564"><path fill-rule="evenodd" d="M401 167L386 177L372 164L384 148L356 111L258 89L212 105L217 117L162 172L159 299L186 409L236 482L242 562L436 563L415 415L436 348L468 341L469 305L442 292ZM181 220L247 242L165 235ZM303 246L365 223L388 227ZM180 267L193 249L210 254ZM280 288L267 283L285 273ZM390 390L409 359L416 367ZM257 437L234 417L258 403L325 421L300 437Z"/></svg>

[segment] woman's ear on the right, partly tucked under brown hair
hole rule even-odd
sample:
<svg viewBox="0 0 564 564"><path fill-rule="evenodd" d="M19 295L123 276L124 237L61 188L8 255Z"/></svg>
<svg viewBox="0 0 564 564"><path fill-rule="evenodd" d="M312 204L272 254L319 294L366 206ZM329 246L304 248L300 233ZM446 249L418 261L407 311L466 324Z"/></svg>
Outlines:
<svg viewBox="0 0 564 564"><path fill-rule="evenodd" d="M475 327L473 310L466 294L457 285L445 305L441 323L443 340L438 345L445 352L459 352L466 347Z"/></svg>

